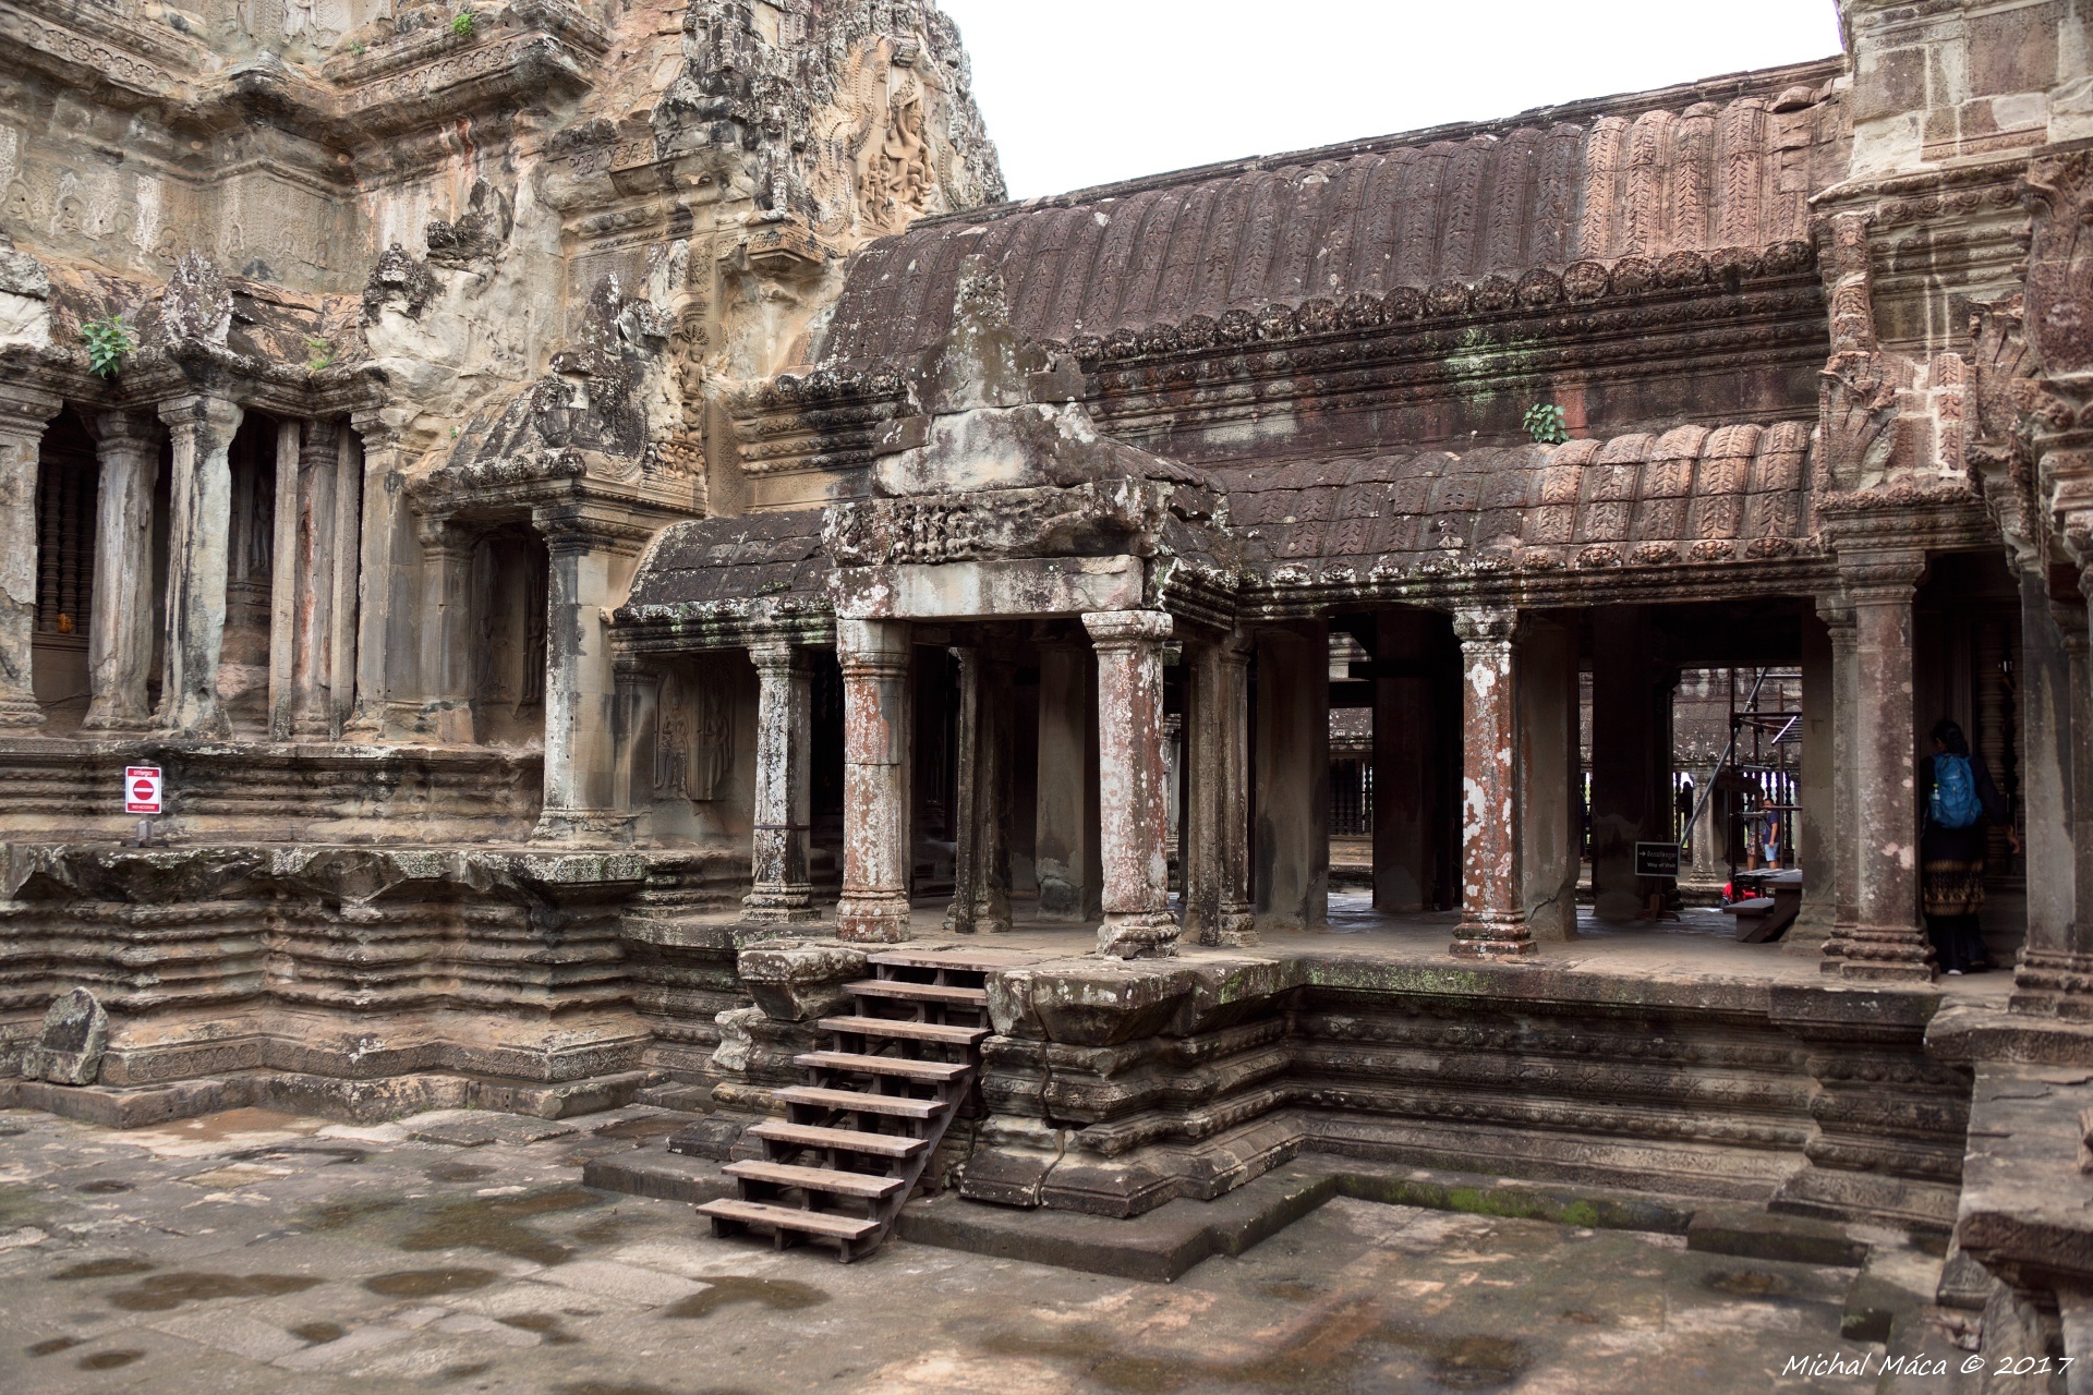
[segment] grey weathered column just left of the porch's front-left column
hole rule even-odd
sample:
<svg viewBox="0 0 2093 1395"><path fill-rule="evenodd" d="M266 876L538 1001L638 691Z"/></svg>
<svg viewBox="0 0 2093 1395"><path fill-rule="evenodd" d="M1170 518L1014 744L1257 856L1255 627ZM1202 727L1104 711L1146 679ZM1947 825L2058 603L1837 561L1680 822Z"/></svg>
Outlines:
<svg viewBox="0 0 2093 1395"><path fill-rule="evenodd" d="M756 663L756 849L743 920L816 920L808 876L814 701L808 655L789 640L749 644Z"/></svg>

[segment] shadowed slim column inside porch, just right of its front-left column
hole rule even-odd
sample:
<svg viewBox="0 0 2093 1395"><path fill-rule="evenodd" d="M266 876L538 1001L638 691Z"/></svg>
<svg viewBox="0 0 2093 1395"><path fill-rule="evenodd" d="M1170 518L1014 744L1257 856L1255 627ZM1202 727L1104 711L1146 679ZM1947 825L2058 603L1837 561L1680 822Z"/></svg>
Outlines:
<svg viewBox="0 0 2093 1395"><path fill-rule="evenodd" d="M957 820L952 906L954 935L1011 929L1009 849L1009 671L980 646L954 646L959 663Z"/></svg>

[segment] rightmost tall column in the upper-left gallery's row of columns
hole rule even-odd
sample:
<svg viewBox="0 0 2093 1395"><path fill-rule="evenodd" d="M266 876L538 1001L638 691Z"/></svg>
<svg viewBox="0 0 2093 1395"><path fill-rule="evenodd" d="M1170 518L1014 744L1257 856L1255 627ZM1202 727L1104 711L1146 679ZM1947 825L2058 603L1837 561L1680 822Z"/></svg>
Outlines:
<svg viewBox="0 0 2093 1395"><path fill-rule="evenodd" d="M362 531L358 544L360 604L356 611L356 705L350 732L385 740L400 726L396 694L412 688L414 661L406 611L402 554L410 546L402 500L400 433L379 412L350 418L362 443Z"/></svg>

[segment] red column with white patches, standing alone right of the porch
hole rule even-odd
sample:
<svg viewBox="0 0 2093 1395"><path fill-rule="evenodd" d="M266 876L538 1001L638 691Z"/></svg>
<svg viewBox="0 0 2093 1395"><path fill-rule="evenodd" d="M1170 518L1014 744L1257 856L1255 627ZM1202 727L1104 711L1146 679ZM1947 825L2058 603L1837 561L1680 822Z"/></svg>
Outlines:
<svg viewBox="0 0 2093 1395"><path fill-rule="evenodd" d="M1520 870L1520 613L1457 611L1461 640L1461 924L1459 958L1534 954Z"/></svg>

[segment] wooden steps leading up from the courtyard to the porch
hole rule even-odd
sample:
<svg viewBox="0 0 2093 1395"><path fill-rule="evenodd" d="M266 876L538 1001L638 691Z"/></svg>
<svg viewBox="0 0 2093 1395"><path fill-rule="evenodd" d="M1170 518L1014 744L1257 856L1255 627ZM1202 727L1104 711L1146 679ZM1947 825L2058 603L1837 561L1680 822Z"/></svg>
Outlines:
<svg viewBox="0 0 2093 1395"><path fill-rule="evenodd" d="M726 1165L741 1196L699 1207L716 1236L833 1244L843 1263L871 1255L973 1096L992 966L906 950L871 966L846 989L856 1012L816 1023L829 1048L795 1058L808 1083L777 1092L787 1117L747 1129L764 1157Z"/></svg>

